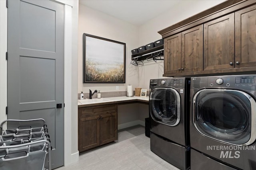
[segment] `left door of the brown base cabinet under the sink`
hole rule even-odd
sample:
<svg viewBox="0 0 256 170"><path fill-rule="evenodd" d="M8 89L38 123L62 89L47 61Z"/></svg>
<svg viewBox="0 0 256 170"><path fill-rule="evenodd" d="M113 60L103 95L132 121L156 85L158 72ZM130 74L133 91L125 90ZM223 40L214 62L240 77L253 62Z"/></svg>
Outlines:
<svg viewBox="0 0 256 170"><path fill-rule="evenodd" d="M100 146L100 116L79 119L79 151Z"/></svg>

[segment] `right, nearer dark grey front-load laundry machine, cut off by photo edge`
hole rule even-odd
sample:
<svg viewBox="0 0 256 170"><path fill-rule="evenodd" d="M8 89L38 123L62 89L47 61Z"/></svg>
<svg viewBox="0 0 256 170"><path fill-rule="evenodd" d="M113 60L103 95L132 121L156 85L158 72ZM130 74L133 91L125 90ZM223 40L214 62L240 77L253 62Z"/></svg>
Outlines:
<svg viewBox="0 0 256 170"><path fill-rule="evenodd" d="M256 169L256 74L192 77L191 170Z"/></svg>

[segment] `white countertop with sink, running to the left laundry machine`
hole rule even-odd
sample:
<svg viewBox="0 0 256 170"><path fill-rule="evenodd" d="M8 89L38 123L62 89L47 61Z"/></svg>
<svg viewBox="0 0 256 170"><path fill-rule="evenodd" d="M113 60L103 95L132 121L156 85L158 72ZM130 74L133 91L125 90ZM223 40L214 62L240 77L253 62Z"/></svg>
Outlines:
<svg viewBox="0 0 256 170"><path fill-rule="evenodd" d="M109 102L120 102L120 101L129 101L129 100L143 100L148 101L149 97L140 97L140 96L133 96L133 97L112 97L112 98L100 98L100 99L84 99L84 100L78 100L78 106L80 105L90 105L90 104L98 104L98 103L109 103ZM88 101L88 102L87 102Z"/></svg>

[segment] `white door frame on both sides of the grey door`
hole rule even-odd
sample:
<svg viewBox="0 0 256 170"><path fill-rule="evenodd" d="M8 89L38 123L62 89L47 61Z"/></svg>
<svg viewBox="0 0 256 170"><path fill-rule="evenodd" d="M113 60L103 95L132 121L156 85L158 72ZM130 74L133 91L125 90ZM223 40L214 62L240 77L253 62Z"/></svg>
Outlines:
<svg viewBox="0 0 256 170"><path fill-rule="evenodd" d="M64 166L77 162L78 151L78 1L54 0L64 4ZM7 9L0 0L0 122L7 119ZM72 41L70 41L72 39ZM72 115L71 115L72 113Z"/></svg>

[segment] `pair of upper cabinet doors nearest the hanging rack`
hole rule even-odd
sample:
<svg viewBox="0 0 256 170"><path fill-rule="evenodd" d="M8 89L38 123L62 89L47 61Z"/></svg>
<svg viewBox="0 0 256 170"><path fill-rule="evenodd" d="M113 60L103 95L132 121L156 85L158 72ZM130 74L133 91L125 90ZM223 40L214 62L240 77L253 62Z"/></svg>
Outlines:
<svg viewBox="0 0 256 170"><path fill-rule="evenodd" d="M202 25L164 39L164 73L203 70Z"/></svg>

